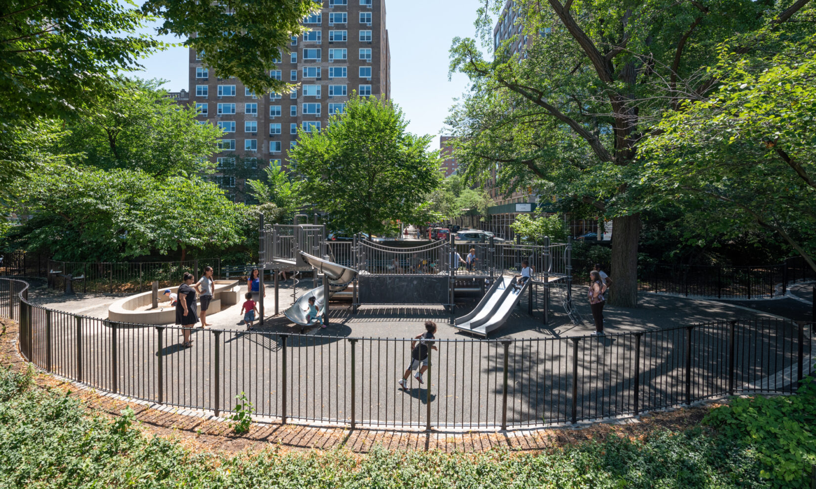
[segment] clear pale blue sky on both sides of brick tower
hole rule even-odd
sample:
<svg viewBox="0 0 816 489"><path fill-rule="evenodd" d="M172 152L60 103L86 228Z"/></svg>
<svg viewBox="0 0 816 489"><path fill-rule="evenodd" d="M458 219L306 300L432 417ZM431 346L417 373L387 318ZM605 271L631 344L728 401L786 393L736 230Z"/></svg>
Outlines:
<svg viewBox="0 0 816 489"><path fill-rule="evenodd" d="M386 24L391 42L392 99L399 104L408 129L415 134L441 134L456 97L467 90L468 78L454 74L448 81L448 50L456 37L474 37L479 0L386 0ZM152 31L146 30L146 33ZM175 37L162 37L179 42ZM169 80L166 90L188 90L187 49L171 48L144 59L140 77ZM431 148L438 148L435 138Z"/></svg>

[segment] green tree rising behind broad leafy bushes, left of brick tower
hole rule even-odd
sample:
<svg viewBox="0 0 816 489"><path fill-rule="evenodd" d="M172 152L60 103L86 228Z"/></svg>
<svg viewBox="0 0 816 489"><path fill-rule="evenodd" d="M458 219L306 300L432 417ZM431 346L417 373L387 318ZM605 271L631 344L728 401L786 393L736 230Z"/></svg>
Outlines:
<svg viewBox="0 0 816 489"><path fill-rule="evenodd" d="M118 81L111 103L73 121L56 152L82 153L84 165L143 170L154 177L211 172L207 158L217 151L222 131L198 124L195 109L175 104L161 84Z"/></svg>

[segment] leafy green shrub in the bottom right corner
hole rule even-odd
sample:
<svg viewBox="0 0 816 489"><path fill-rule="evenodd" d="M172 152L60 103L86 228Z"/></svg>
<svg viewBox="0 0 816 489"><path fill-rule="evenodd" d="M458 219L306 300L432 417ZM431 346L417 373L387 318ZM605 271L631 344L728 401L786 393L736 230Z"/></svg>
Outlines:
<svg viewBox="0 0 816 489"><path fill-rule="evenodd" d="M807 378L796 395L731 399L704 423L721 436L750 444L764 465L761 477L775 487L806 487L816 464L816 382Z"/></svg>

